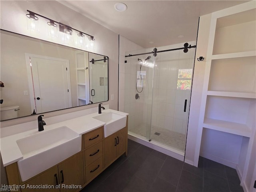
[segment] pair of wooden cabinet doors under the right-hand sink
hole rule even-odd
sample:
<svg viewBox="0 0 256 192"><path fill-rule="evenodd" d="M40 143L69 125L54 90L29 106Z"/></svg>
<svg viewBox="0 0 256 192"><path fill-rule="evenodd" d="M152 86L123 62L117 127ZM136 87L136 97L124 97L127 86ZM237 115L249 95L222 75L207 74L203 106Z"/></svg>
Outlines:
<svg viewBox="0 0 256 192"><path fill-rule="evenodd" d="M126 127L104 139L104 167L110 165L126 151Z"/></svg>

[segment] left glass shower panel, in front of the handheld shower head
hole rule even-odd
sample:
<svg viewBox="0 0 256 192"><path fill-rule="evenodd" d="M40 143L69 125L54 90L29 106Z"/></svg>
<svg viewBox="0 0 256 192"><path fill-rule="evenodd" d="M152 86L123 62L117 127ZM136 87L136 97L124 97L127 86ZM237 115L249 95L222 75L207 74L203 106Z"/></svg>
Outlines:
<svg viewBox="0 0 256 192"><path fill-rule="evenodd" d="M126 52L144 53L146 50ZM128 131L150 140L154 57L152 54L125 58L124 112L129 113Z"/></svg>

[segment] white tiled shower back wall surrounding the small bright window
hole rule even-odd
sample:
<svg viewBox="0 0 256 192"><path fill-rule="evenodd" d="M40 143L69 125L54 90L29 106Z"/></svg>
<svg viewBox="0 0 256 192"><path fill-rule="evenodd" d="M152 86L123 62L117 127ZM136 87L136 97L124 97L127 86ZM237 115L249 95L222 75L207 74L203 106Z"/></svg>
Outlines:
<svg viewBox="0 0 256 192"><path fill-rule="evenodd" d="M192 46L195 41L188 42ZM168 50L184 47L184 43L159 47ZM158 53L155 57L152 126L186 134L191 90L177 89L179 69L192 69L195 48ZM184 101L187 99L186 112Z"/></svg>

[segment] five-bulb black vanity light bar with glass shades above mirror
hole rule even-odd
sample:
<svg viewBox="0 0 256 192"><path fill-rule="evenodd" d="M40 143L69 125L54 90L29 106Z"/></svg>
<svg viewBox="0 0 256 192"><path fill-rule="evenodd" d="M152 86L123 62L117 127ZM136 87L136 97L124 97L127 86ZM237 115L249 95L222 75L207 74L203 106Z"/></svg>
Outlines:
<svg viewBox="0 0 256 192"><path fill-rule="evenodd" d="M34 13L30 10L27 10L29 12L29 14L26 14L28 20L27 20L27 26L28 26L28 30L37 30L36 28L36 25L34 23L34 21L38 21L38 17L37 16L40 16L42 18L45 18L47 20L49 20L50 22L47 22L48 24L48 36L49 38L56 38L57 37L57 33L58 33L58 30L57 30L57 24L59 24L59 31L60 32L63 32L64 33L64 36L62 38L62 40L64 41L65 44L69 44L70 42L72 42L72 33L73 31L72 30L75 30L78 32L78 38L77 38L77 45L82 48L84 45L85 45L85 35L89 36L88 38L88 44L86 45L88 48L94 48L95 46L95 39L94 39L94 36L92 35L89 35L89 34L86 34L84 32L81 32L79 30L76 30L68 25L65 25L65 24L62 24L60 22L57 22L57 21L54 21L52 19L49 19L45 16L42 16L42 15L39 15L37 13ZM56 24L57 23L57 24Z"/></svg>

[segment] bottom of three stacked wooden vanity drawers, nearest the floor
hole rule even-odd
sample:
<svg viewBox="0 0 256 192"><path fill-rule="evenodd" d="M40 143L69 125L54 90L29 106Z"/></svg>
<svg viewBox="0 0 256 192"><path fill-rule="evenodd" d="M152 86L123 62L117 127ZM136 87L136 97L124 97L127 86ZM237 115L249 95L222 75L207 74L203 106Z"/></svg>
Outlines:
<svg viewBox="0 0 256 192"><path fill-rule="evenodd" d="M96 160L95 162L93 162L92 164L90 164L89 166L87 166L85 168L85 172L86 172L86 181L89 181L90 179L92 179L96 174L98 174L99 172L101 172L103 168L103 158L100 157L98 160Z"/></svg>

